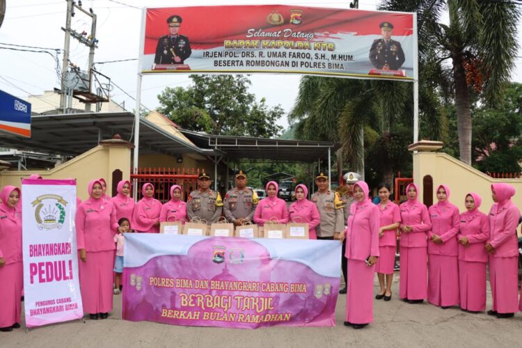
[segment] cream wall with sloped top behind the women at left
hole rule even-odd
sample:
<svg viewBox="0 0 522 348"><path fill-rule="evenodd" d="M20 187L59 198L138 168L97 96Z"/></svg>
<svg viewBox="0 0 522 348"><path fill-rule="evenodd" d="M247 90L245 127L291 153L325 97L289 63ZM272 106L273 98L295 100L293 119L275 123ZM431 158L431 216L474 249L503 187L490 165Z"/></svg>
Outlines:
<svg viewBox="0 0 522 348"><path fill-rule="evenodd" d="M130 177L131 149L122 145L98 145L74 159L71 159L50 171L2 171L0 186L20 186L20 180L31 174L40 174L45 179L76 179L77 195L81 200L88 198L87 187L90 180L103 177L107 182L107 193L111 193L112 173L116 169L122 171L122 177Z"/></svg>

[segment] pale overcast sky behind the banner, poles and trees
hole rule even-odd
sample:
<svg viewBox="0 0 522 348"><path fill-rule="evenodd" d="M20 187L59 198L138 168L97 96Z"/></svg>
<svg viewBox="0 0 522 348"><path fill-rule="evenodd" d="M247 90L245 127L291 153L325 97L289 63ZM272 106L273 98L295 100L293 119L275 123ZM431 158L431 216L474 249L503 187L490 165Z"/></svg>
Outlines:
<svg viewBox="0 0 522 348"><path fill-rule="evenodd" d="M329 8L349 8L351 0L345 1L253 1L253 0L84 0L86 10L93 8L97 14L98 49L95 50L95 63L138 58L139 35L141 29L141 8L176 7L176 6L216 6L216 5L253 5L282 4L300 6L319 6ZM375 10L379 0L361 0L359 8ZM63 49L65 0L7 0L6 17L0 27L0 42ZM90 33L90 17L79 13L72 17L72 29ZM522 27L519 26L519 28ZM522 29L521 29L522 32ZM519 42L522 46L521 34ZM6 47L0 45L0 47ZM24 47L13 47L24 49ZM86 70L88 65L88 47L71 39L70 61ZM519 56L522 50L519 49ZM61 67L63 54L58 56ZM44 90L59 88L56 73L56 61L49 54L19 52L0 49L0 90L26 99L28 95L42 95ZM125 93L136 97L136 77L138 61L96 64L95 68L111 78L114 87L112 99L125 104L125 109L132 111L136 102ZM266 98L269 106L280 105L289 112L294 105L299 88L299 74L253 74L251 75L251 93L258 100ZM522 58L516 59L516 68L512 81L522 82ZM159 106L157 95L167 86L187 87L189 74L145 75L141 85L141 104L148 109ZM122 91L124 90L124 91ZM38 110L33 110L38 112ZM279 122L287 127L286 117Z"/></svg>

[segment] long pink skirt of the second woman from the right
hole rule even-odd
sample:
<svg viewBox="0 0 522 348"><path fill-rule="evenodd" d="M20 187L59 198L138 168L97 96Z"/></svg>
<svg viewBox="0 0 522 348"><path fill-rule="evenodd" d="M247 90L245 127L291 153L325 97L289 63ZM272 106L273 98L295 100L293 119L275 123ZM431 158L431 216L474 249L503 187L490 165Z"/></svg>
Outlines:
<svg viewBox="0 0 522 348"><path fill-rule="evenodd" d="M486 309L486 262L459 260L460 308L482 312Z"/></svg>

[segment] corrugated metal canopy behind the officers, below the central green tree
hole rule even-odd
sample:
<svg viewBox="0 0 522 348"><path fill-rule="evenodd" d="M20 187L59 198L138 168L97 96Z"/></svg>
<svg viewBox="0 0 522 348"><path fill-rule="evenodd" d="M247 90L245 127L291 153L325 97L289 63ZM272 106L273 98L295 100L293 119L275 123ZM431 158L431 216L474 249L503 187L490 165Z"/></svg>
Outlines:
<svg viewBox="0 0 522 348"><path fill-rule="evenodd" d="M217 136L186 129L180 131L199 148L221 151L224 156L235 159L313 162L328 158L329 149L338 149L338 145L326 141Z"/></svg>

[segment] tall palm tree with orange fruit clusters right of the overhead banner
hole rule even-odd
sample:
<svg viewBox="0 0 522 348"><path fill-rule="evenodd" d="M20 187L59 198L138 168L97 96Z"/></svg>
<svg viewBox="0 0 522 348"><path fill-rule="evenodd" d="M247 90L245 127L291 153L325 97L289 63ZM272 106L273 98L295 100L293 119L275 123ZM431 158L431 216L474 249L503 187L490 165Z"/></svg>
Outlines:
<svg viewBox="0 0 522 348"><path fill-rule="evenodd" d="M432 79L457 109L460 159L471 164L470 106L476 98L491 106L503 101L519 9L505 0L386 0L381 9L418 14L419 60L432 58ZM445 10L449 25L441 23Z"/></svg>

